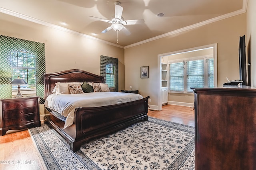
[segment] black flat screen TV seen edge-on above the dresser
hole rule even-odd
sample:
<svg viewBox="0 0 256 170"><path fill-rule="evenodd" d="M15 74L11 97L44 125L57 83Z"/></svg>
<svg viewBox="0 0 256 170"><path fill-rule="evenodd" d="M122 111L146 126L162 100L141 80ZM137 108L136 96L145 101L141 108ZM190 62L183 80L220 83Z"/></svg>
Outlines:
<svg viewBox="0 0 256 170"><path fill-rule="evenodd" d="M246 55L245 55L245 35L240 37L239 41L239 73L242 85L248 86L246 72Z"/></svg>

